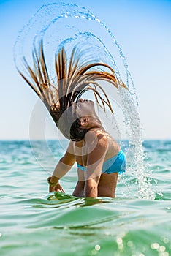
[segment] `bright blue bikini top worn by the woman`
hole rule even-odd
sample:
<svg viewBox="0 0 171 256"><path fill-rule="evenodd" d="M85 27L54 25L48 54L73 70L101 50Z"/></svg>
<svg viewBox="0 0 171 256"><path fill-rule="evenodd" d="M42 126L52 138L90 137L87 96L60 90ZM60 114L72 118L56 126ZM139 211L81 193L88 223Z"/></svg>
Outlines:
<svg viewBox="0 0 171 256"><path fill-rule="evenodd" d="M78 165L77 167L80 170L86 171L86 167L82 165ZM102 173L124 173L126 171L126 157L123 151L119 151L114 157L107 159L102 167Z"/></svg>

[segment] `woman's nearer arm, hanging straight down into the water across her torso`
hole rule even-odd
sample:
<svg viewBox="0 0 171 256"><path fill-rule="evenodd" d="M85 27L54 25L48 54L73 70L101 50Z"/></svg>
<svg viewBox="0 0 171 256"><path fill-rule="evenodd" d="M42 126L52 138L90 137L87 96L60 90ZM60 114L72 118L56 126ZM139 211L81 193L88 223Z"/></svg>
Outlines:
<svg viewBox="0 0 171 256"><path fill-rule="evenodd" d="M85 195L86 197L98 196L98 184L102 174L102 166L108 148L108 138L106 135L98 135L97 138L91 138L96 135L90 135L88 146L88 159L86 170ZM96 146L92 148L92 141L96 141Z"/></svg>

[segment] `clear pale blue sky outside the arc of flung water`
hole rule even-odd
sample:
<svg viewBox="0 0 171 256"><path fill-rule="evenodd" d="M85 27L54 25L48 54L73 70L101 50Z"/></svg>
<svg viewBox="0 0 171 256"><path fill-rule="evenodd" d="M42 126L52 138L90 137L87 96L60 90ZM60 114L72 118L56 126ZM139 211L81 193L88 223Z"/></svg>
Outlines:
<svg viewBox="0 0 171 256"><path fill-rule="evenodd" d="M18 31L42 4L51 2L0 1L0 140L29 139L37 96L18 75L12 48ZM64 2L88 8L115 35L134 79L142 138L171 139L171 1Z"/></svg>

